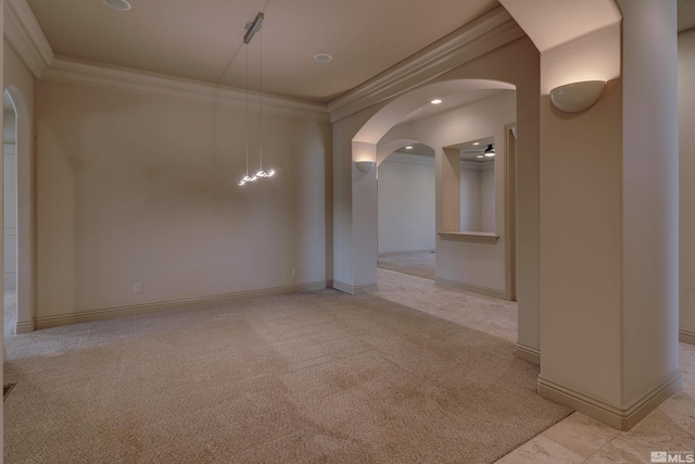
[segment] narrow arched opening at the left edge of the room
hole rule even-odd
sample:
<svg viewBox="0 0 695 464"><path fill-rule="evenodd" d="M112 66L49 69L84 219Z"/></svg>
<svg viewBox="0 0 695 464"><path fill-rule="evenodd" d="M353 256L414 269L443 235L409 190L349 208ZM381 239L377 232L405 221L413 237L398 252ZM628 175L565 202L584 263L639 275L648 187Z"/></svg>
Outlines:
<svg viewBox="0 0 695 464"><path fill-rule="evenodd" d="M34 330L33 155L30 117L20 89L3 92L4 334ZM7 304L7 302L10 304ZM8 314L8 310L10 314Z"/></svg>

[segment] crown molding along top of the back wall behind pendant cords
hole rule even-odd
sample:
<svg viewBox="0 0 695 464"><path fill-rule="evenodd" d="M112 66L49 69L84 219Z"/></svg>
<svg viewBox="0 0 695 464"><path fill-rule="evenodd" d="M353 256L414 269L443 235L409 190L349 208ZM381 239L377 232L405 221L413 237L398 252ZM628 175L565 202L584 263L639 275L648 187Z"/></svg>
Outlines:
<svg viewBox="0 0 695 464"><path fill-rule="evenodd" d="M102 90L124 91L149 97L174 98L189 102L245 110L245 90L200 80L147 73L142 71L97 65L55 57L41 74L42 80L79 85ZM250 92L255 99L257 93ZM252 111L255 111L252 109ZM263 95L264 114L328 123L326 105Z"/></svg>

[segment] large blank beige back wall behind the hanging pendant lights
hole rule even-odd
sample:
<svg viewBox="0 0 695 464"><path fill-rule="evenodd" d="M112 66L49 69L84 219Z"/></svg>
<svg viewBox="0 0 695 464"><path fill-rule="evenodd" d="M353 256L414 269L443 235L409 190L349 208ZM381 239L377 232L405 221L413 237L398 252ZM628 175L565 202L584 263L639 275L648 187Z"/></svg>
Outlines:
<svg viewBox="0 0 695 464"><path fill-rule="evenodd" d="M39 326L330 279L328 124L265 115L244 187L242 110L37 81L36 131Z"/></svg>

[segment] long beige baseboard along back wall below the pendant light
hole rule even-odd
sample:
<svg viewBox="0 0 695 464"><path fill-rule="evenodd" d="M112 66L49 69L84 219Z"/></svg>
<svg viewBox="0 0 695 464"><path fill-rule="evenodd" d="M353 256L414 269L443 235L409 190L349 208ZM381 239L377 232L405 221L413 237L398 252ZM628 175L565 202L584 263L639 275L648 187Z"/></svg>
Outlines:
<svg viewBox="0 0 695 464"><path fill-rule="evenodd" d="M276 294L298 293L301 291L317 291L330 288L330 281L317 281L287 287L274 287L261 290L239 291L233 293L215 294L210 297L169 300L157 303L137 304L132 306L110 308L105 310L85 311L58 316L43 316L36 318L36 328L45 329L60 327L70 324L79 324L92 321L110 319L114 317L132 316L138 314L159 313L163 311L181 310L204 304L224 303L228 301L247 300L258 297L271 297Z"/></svg>

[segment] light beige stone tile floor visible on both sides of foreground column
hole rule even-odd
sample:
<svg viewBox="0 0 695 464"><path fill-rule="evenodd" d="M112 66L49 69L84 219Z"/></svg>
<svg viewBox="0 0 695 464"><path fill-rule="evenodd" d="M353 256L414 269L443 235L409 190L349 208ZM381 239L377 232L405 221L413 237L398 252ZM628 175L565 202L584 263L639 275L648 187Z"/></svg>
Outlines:
<svg viewBox="0 0 695 464"><path fill-rule="evenodd" d="M516 342L516 303L383 268L378 269L378 281L380 297ZM620 431L574 413L497 463L652 463L653 451L695 452L695 346L680 343L680 355L682 391L632 430ZM688 462L686 455L681 457Z"/></svg>

